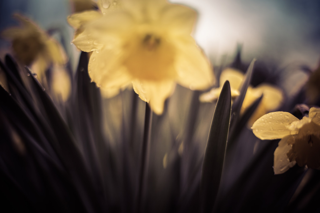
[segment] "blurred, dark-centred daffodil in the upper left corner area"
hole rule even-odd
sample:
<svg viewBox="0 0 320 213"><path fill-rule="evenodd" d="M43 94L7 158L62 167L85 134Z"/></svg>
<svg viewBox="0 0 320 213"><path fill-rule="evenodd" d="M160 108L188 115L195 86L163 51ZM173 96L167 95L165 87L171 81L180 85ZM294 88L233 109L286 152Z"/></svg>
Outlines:
<svg viewBox="0 0 320 213"><path fill-rule="evenodd" d="M23 65L31 66L39 79L50 65L64 65L67 57L58 42L27 18L15 14L22 26L11 27L2 32L2 36L11 40L12 49Z"/></svg>

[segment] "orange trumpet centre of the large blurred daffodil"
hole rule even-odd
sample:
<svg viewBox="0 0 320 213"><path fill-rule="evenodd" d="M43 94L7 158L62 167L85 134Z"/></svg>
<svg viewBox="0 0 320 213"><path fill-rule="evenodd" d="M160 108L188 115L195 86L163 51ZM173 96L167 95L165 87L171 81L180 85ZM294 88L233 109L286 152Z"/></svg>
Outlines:
<svg viewBox="0 0 320 213"><path fill-rule="evenodd" d="M164 80L176 77L175 47L165 34L146 32L132 37L134 39L125 46L129 54L124 65L134 78Z"/></svg>

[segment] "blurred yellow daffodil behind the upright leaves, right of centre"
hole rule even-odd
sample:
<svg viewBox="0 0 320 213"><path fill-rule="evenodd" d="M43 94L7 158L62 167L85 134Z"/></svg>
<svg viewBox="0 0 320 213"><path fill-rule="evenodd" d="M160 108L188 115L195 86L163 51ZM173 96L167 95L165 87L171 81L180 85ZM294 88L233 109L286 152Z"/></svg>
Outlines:
<svg viewBox="0 0 320 213"><path fill-rule="evenodd" d="M244 74L236 69L227 68L221 72L220 85L223 85L226 80L230 82L231 97L234 99L240 94L240 89L244 80ZM213 88L209 92L200 95L200 101L212 102L214 100L217 100L220 92L221 86L219 88ZM252 126L254 121L260 118L262 115L272 110L276 110L282 103L283 94L279 88L264 83L260 84L257 87L249 86L244 97L240 113L244 113L244 111L248 107L250 107L252 103L257 100L262 94L262 100L257 109L250 117L248 126Z"/></svg>

